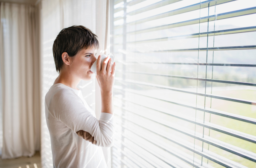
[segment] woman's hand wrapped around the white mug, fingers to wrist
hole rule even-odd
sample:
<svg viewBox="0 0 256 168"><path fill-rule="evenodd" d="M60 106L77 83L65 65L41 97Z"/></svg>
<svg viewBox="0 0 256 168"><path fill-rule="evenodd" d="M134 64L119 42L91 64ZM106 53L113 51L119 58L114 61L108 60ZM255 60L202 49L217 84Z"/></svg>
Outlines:
<svg viewBox="0 0 256 168"><path fill-rule="evenodd" d="M101 68L101 55L99 55L96 64L97 70L97 81L102 94L111 94L113 93L113 85L115 78L116 62L111 64L111 58L107 57L104 59Z"/></svg>

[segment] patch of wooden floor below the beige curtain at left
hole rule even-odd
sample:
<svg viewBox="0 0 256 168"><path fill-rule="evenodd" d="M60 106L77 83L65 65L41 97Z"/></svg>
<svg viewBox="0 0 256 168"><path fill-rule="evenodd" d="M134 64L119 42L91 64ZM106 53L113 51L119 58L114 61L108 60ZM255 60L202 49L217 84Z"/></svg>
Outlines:
<svg viewBox="0 0 256 168"><path fill-rule="evenodd" d="M0 168L41 168L40 152L36 152L32 157L19 157L16 159L0 158Z"/></svg>

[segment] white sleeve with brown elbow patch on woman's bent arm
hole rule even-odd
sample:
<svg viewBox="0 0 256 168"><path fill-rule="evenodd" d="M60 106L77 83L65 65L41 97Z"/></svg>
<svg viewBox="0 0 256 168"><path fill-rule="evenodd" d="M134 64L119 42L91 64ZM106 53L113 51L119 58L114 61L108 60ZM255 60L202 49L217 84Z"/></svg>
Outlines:
<svg viewBox="0 0 256 168"><path fill-rule="evenodd" d="M84 106L72 90L61 90L54 95L54 115L73 132L96 146L114 144L114 115L102 112L99 120Z"/></svg>

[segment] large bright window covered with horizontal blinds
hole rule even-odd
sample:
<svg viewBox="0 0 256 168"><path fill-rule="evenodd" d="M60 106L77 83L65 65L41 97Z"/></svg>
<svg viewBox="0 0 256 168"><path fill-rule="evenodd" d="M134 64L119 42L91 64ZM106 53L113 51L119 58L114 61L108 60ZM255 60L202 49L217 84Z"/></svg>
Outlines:
<svg viewBox="0 0 256 168"><path fill-rule="evenodd" d="M112 167L256 167L256 1L110 6Z"/></svg>

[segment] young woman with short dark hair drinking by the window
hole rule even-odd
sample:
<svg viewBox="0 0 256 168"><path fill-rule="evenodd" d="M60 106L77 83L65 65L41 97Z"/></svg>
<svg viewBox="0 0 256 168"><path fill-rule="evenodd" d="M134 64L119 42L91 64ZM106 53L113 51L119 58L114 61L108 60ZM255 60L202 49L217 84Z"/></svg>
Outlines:
<svg viewBox="0 0 256 168"><path fill-rule="evenodd" d="M90 67L96 61L99 42L88 28L64 28L53 44L55 67L59 72L45 96L45 114L51 137L54 168L107 168L99 147L114 142L113 84L116 64L106 58L97 61L97 81L101 89L99 120L84 100L77 85L90 80Z"/></svg>

